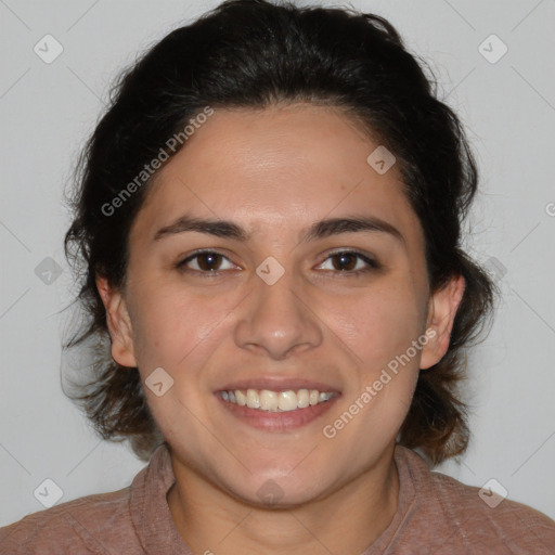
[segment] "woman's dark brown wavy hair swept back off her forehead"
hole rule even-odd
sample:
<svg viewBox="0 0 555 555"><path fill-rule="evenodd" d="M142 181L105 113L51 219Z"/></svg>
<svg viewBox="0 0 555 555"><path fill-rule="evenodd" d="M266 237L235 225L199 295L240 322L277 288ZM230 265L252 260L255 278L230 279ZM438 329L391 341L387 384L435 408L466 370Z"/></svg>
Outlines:
<svg viewBox="0 0 555 555"><path fill-rule="evenodd" d="M463 453L467 405L457 384L465 349L492 312L495 285L461 248L461 228L477 190L477 169L455 114L437 99L396 29L383 17L351 10L297 8L263 0L220 4L155 44L116 83L111 105L78 164L65 236L83 309L64 347L89 343L78 400L102 437L129 439L147 457L163 441L137 369L111 357L106 313L95 280L126 281L128 234L152 178L121 196L145 165L178 149L168 140L206 106L263 108L278 102L337 106L363 121L397 157L405 194L426 241L431 292L453 275L466 289L447 354L421 371L400 443L433 463ZM129 192L129 189L127 189ZM119 196L118 196L119 195ZM113 199L117 210L113 210ZM112 207L112 208L111 208Z"/></svg>

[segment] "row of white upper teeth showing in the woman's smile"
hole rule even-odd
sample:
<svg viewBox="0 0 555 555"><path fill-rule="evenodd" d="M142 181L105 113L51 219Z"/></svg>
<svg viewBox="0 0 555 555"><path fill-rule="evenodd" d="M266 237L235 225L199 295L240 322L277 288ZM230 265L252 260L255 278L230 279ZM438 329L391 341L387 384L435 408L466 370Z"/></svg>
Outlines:
<svg viewBox="0 0 555 555"><path fill-rule="evenodd" d="M318 403L328 401L334 397L333 392L320 392L318 389L299 389L293 391L271 391L269 389L241 389L220 392L224 401L248 406L249 409L259 409L270 412L288 412L296 409L306 409Z"/></svg>

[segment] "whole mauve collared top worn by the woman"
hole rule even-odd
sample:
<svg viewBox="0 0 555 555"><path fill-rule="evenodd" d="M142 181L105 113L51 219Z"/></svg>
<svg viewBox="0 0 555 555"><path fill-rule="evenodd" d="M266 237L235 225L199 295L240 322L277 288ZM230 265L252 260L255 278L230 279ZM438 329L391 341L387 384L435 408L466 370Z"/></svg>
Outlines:
<svg viewBox="0 0 555 555"><path fill-rule="evenodd" d="M479 488L431 472L418 453L404 447L396 446L395 462L397 513L361 555L555 554L555 521L543 513L508 499L491 507L478 495ZM169 452L160 446L130 487L63 503L0 528L0 553L193 555L166 501L173 481ZM210 545L205 553L210 547L224 553Z"/></svg>

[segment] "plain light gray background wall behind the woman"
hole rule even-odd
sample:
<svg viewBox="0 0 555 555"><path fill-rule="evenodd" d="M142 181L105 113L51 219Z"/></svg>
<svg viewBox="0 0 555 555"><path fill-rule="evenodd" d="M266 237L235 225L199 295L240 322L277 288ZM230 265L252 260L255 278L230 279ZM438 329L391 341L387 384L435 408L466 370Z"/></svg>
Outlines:
<svg viewBox="0 0 555 555"><path fill-rule="evenodd" d="M34 491L46 478L62 503L126 487L143 466L100 441L61 390L67 317L57 312L75 292L62 191L117 72L216 4L0 1L0 525L42 508ZM506 268L494 326L470 358L470 448L461 465L438 469L479 487L495 478L509 499L555 518L554 2L352 5L389 18L431 64L481 170L468 248ZM34 52L47 34L64 49L51 64ZM494 64L478 50L491 34L508 48ZM35 273L46 257L63 269L50 285Z"/></svg>

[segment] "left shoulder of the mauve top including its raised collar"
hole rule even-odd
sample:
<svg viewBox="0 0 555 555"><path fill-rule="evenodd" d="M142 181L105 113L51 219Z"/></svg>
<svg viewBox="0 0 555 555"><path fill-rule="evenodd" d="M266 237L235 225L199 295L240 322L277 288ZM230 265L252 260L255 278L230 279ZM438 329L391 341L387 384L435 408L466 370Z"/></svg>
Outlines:
<svg viewBox="0 0 555 555"><path fill-rule="evenodd" d="M144 542L155 541L163 525L178 533L166 503L172 482L163 444L128 488L69 501L0 528L0 555L142 554Z"/></svg>

